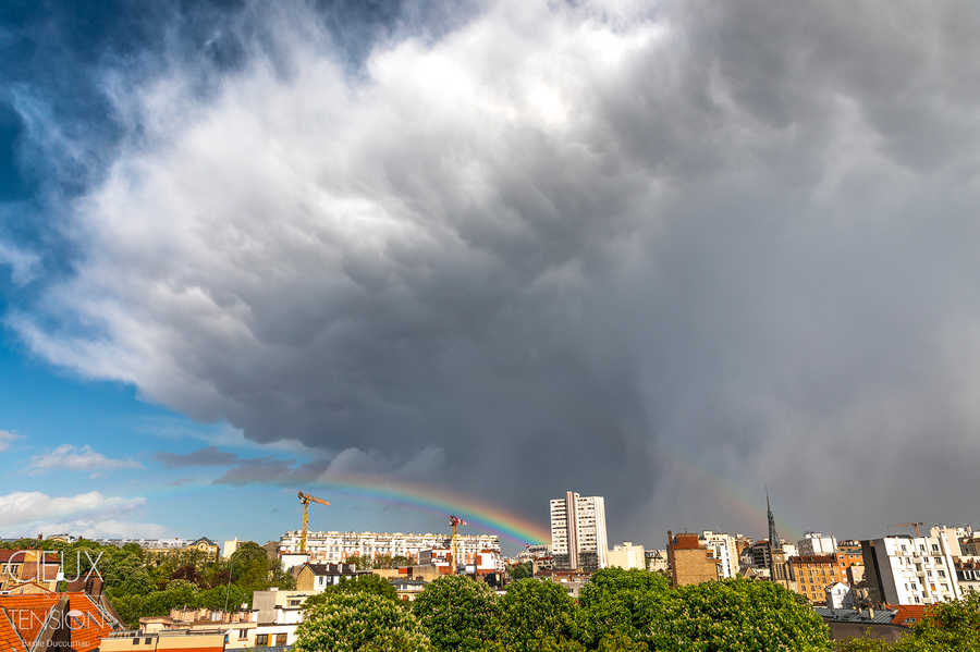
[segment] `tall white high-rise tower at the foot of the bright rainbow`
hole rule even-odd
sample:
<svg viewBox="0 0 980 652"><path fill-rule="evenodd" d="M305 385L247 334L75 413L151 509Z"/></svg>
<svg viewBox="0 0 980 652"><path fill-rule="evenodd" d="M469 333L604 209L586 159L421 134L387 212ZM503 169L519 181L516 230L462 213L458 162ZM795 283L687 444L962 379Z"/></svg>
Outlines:
<svg viewBox="0 0 980 652"><path fill-rule="evenodd" d="M605 500L567 492L551 501L551 551L556 568L605 568Z"/></svg>

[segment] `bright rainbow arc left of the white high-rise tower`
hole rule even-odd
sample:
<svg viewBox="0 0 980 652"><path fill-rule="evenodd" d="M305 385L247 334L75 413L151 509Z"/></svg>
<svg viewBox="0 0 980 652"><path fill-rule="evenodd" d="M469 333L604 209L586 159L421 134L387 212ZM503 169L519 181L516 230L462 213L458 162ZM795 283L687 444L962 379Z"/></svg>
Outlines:
<svg viewBox="0 0 980 652"><path fill-rule="evenodd" d="M396 503L422 512L444 515L446 524L449 524L450 514L455 514L468 525L482 526L490 530L490 533L518 545L551 541L551 532L540 524L516 516L497 505L464 496L455 491L450 496L444 491L429 487L392 482L390 479L373 476L346 473L342 477L321 479L316 484L353 492L363 499L378 503Z"/></svg>

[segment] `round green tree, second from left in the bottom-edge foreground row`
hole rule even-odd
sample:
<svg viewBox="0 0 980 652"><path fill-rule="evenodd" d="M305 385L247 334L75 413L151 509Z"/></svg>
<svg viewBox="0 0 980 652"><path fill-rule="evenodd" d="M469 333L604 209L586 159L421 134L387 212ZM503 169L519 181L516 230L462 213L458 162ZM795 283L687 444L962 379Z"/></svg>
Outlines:
<svg viewBox="0 0 980 652"><path fill-rule="evenodd" d="M482 582L448 575L429 582L412 603L437 650L479 650L493 632L497 593Z"/></svg>

